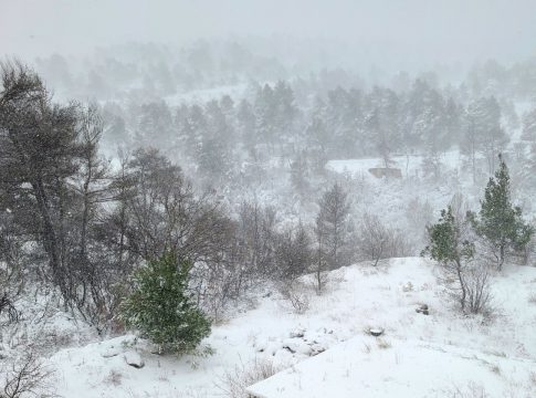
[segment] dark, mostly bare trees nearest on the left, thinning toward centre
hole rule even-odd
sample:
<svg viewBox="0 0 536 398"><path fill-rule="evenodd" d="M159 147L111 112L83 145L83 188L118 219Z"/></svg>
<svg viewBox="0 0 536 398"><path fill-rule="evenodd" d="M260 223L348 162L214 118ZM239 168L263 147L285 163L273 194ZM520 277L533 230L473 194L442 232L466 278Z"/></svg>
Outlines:
<svg viewBox="0 0 536 398"><path fill-rule="evenodd" d="M322 293L326 272L357 255L350 201L337 184L319 199L314 226L283 227L271 206L225 208L158 149L105 159L97 107L54 103L25 65L3 63L0 78L0 315L12 322L17 296L34 282L99 333L118 327L133 275L168 253L191 264L188 294L212 318L262 281L314 271ZM375 226L376 262L402 250Z"/></svg>

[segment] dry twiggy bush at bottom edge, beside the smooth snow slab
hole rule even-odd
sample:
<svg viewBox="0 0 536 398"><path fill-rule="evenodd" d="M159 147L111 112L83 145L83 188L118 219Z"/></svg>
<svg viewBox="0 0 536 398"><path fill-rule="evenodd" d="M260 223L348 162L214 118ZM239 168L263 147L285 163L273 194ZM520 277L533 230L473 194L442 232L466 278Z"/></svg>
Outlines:
<svg viewBox="0 0 536 398"><path fill-rule="evenodd" d="M228 398L249 398L246 388L255 383L267 379L280 369L272 362L255 358L248 366L237 366L234 370L225 373L217 387Z"/></svg>

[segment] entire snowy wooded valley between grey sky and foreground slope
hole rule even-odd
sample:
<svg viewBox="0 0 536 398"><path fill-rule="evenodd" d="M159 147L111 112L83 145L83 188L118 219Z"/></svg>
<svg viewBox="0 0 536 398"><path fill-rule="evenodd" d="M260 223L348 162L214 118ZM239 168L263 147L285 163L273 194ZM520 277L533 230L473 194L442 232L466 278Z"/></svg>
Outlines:
<svg viewBox="0 0 536 398"><path fill-rule="evenodd" d="M174 63L161 49L130 50L154 60L132 64L107 54L83 73L60 55L39 60L62 93L57 100L31 67L2 64L0 313L13 322L30 272L98 333L120 328L116 315L134 289L132 275L169 252L191 262L188 297L213 321L264 289L303 312L303 275L313 273L322 294L329 271L418 254L437 209L413 190L445 197L448 187L449 197L466 190L475 199L490 176L504 175L500 154L515 170L512 187L492 182L504 180L495 175L472 218L474 232L479 244L493 240L498 265L521 248L529 261L532 227L509 195L521 193L530 210L535 107L522 114L513 102L529 98L523 85L534 82L519 71L532 61L503 69L500 82L493 69L475 66L455 86L433 73L372 85L343 70L296 76L237 46L218 54L195 46ZM237 54L241 66L222 73ZM222 84L240 90L178 95ZM66 101L64 93L94 102ZM329 167L367 158L383 169L378 184ZM492 193L493 184L502 193ZM393 202L375 200L386 193ZM495 206L486 203L494 200L517 226L506 238L492 239ZM456 242L458 219L441 219ZM440 261L452 275L472 273L459 279L465 296L474 293L471 283L487 283L480 269L464 268L469 255L449 255ZM467 300L462 306L472 308Z"/></svg>

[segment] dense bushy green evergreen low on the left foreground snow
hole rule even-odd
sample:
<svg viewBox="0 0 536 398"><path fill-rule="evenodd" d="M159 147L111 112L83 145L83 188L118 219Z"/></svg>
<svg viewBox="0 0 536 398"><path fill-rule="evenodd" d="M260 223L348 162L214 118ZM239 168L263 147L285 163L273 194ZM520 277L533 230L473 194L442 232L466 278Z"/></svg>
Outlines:
<svg viewBox="0 0 536 398"><path fill-rule="evenodd" d="M210 321L188 294L191 263L172 252L149 261L134 274L134 290L122 304L122 318L161 350L195 349L210 334Z"/></svg>

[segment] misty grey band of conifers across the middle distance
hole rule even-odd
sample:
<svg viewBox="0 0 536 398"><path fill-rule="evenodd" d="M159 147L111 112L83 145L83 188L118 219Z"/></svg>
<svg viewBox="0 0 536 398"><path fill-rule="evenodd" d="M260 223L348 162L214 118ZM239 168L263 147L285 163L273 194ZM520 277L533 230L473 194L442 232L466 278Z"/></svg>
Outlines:
<svg viewBox="0 0 536 398"><path fill-rule="evenodd" d="M425 80L402 92L381 86L324 92L314 83L280 81L252 83L237 102L228 95L174 107L164 101L128 107L111 102L103 117L112 144L179 153L212 184L255 172L255 165L273 156L301 161L318 175L328 159L374 156L391 167L393 156L423 155L424 175L437 178L441 156L452 149L461 151L476 182L495 171L496 157L509 142L505 128L518 124L511 105L494 96L467 98L461 90ZM244 164L245 171L238 166Z"/></svg>

